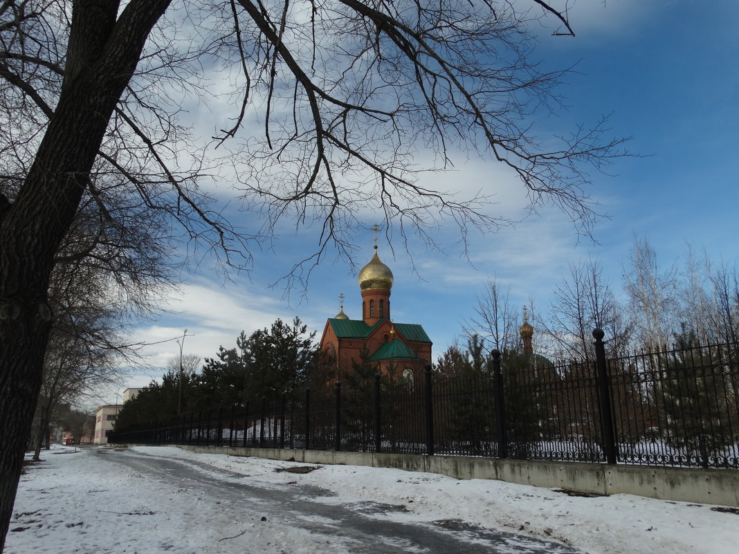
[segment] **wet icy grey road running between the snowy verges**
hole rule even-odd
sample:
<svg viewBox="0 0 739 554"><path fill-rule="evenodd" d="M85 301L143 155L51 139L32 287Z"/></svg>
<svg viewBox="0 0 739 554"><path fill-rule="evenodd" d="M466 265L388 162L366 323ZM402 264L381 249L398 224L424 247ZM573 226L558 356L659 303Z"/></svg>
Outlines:
<svg viewBox="0 0 739 554"><path fill-rule="evenodd" d="M582 554L562 544L474 527L463 521L403 521L405 506L377 502L336 502L328 490L259 482L239 473L190 459L171 459L131 450L106 451L101 458L118 470L188 490L202 499L217 499L225 519L258 514L278 521L331 550L368 554ZM208 521L202 521L208 525ZM265 535L253 538L265 540ZM183 538L183 540L186 540ZM256 546L256 545L255 545ZM255 549L254 552L259 552ZM285 550L290 554L290 550Z"/></svg>

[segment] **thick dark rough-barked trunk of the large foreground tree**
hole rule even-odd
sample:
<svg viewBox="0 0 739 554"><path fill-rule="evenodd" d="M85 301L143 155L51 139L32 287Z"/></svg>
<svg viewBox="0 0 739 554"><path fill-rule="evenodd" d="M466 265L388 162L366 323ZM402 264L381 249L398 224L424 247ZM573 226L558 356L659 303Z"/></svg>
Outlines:
<svg viewBox="0 0 739 554"><path fill-rule="evenodd" d="M0 211L0 551L41 388L47 288L110 116L171 0L75 1L64 85L21 191Z"/></svg>

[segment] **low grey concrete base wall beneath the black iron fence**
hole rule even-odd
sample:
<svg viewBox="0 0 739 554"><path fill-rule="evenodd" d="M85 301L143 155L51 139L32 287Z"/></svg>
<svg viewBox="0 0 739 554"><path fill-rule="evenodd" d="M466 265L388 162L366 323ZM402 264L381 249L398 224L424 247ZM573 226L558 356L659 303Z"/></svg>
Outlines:
<svg viewBox="0 0 739 554"><path fill-rule="evenodd" d="M564 488L603 496L635 494L661 500L739 506L739 471L654 468L577 462L417 456L281 448L228 448L181 445L207 454L255 456L310 464L364 465L405 471L440 473L456 479L497 479L519 485Z"/></svg>

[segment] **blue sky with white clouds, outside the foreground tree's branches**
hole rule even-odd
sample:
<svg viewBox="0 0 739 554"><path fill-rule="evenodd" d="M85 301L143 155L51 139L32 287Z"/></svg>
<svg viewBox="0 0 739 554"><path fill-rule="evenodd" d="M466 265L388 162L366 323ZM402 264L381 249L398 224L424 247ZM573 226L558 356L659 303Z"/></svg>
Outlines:
<svg viewBox="0 0 739 554"><path fill-rule="evenodd" d="M619 289L635 236L649 240L665 265L681 259L686 244L730 266L739 261L732 239L739 235L739 4L579 0L568 6L576 36L542 32L535 51L546 68L574 69L558 90L566 109L543 123L556 134L608 116L610 134L632 137L627 148L639 155L614 160L607 174L591 174L588 193L607 214L592 237L576 233L556 208L523 219L520 186L499 164L462 155L454 171L422 177L422 185L460 194L475 188L497 194L492 210L523 219L497 233L472 233L469 259L452 225L435 232L443 251L416 241L406 251L397 230L391 230L389 242L381 233L378 253L395 276L392 318L423 325L434 359L460 336L486 278L510 287L514 305L533 298L541 312L548 310L568 264L588 257L602 262L608 281ZM208 119L205 112L202 117ZM174 339L184 329L183 352L212 358L219 346L235 346L242 330L248 335L276 318L299 317L320 338L326 319L338 313L339 294L345 297L344 312L359 318L356 271L372 257L374 223L372 214L361 222L366 232L356 235L356 267L327 256L305 290L271 285L316 248L316 228L296 232L283 226L271 244L254 252L248 273L224 276L214 263L201 260L183 273L179 292L163 303L160 315L134 326L134 341L156 343L142 350L149 367L92 403L113 403L123 389L160 377L166 361L179 356Z"/></svg>

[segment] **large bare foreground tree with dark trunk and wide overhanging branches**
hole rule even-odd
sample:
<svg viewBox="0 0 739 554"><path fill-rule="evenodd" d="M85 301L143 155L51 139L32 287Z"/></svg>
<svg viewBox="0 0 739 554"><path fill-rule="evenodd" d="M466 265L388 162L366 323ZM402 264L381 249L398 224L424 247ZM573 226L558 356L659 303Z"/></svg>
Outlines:
<svg viewBox="0 0 739 554"><path fill-rule="evenodd" d="M556 33L571 33L562 13L532 2ZM302 278L331 245L350 255L361 208L429 240L439 216L455 219L463 235L497 225L484 210L489 191L457 199L413 177L420 147L437 153L438 168L456 146L479 148L520 177L533 208L553 202L586 229L586 171L622 154L602 126L539 148L552 143L537 140L527 116L556 109L562 72L531 62L534 13L517 3L171 4L0 4L3 540L41 385L55 256L86 195L101 204L98 236L130 229L106 215L94 174L118 177L146 213L182 226L191 253L218 248L227 266L247 264L284 216L317 221L316 254L291 272ZM218 72L217 86L206 81ZM197 143L182 106L213 98L213 89L225 91L214 100L240 100L216 142ZM235 230L201 188L208 179L239 183L245 207L264 219Z"/></svg>

